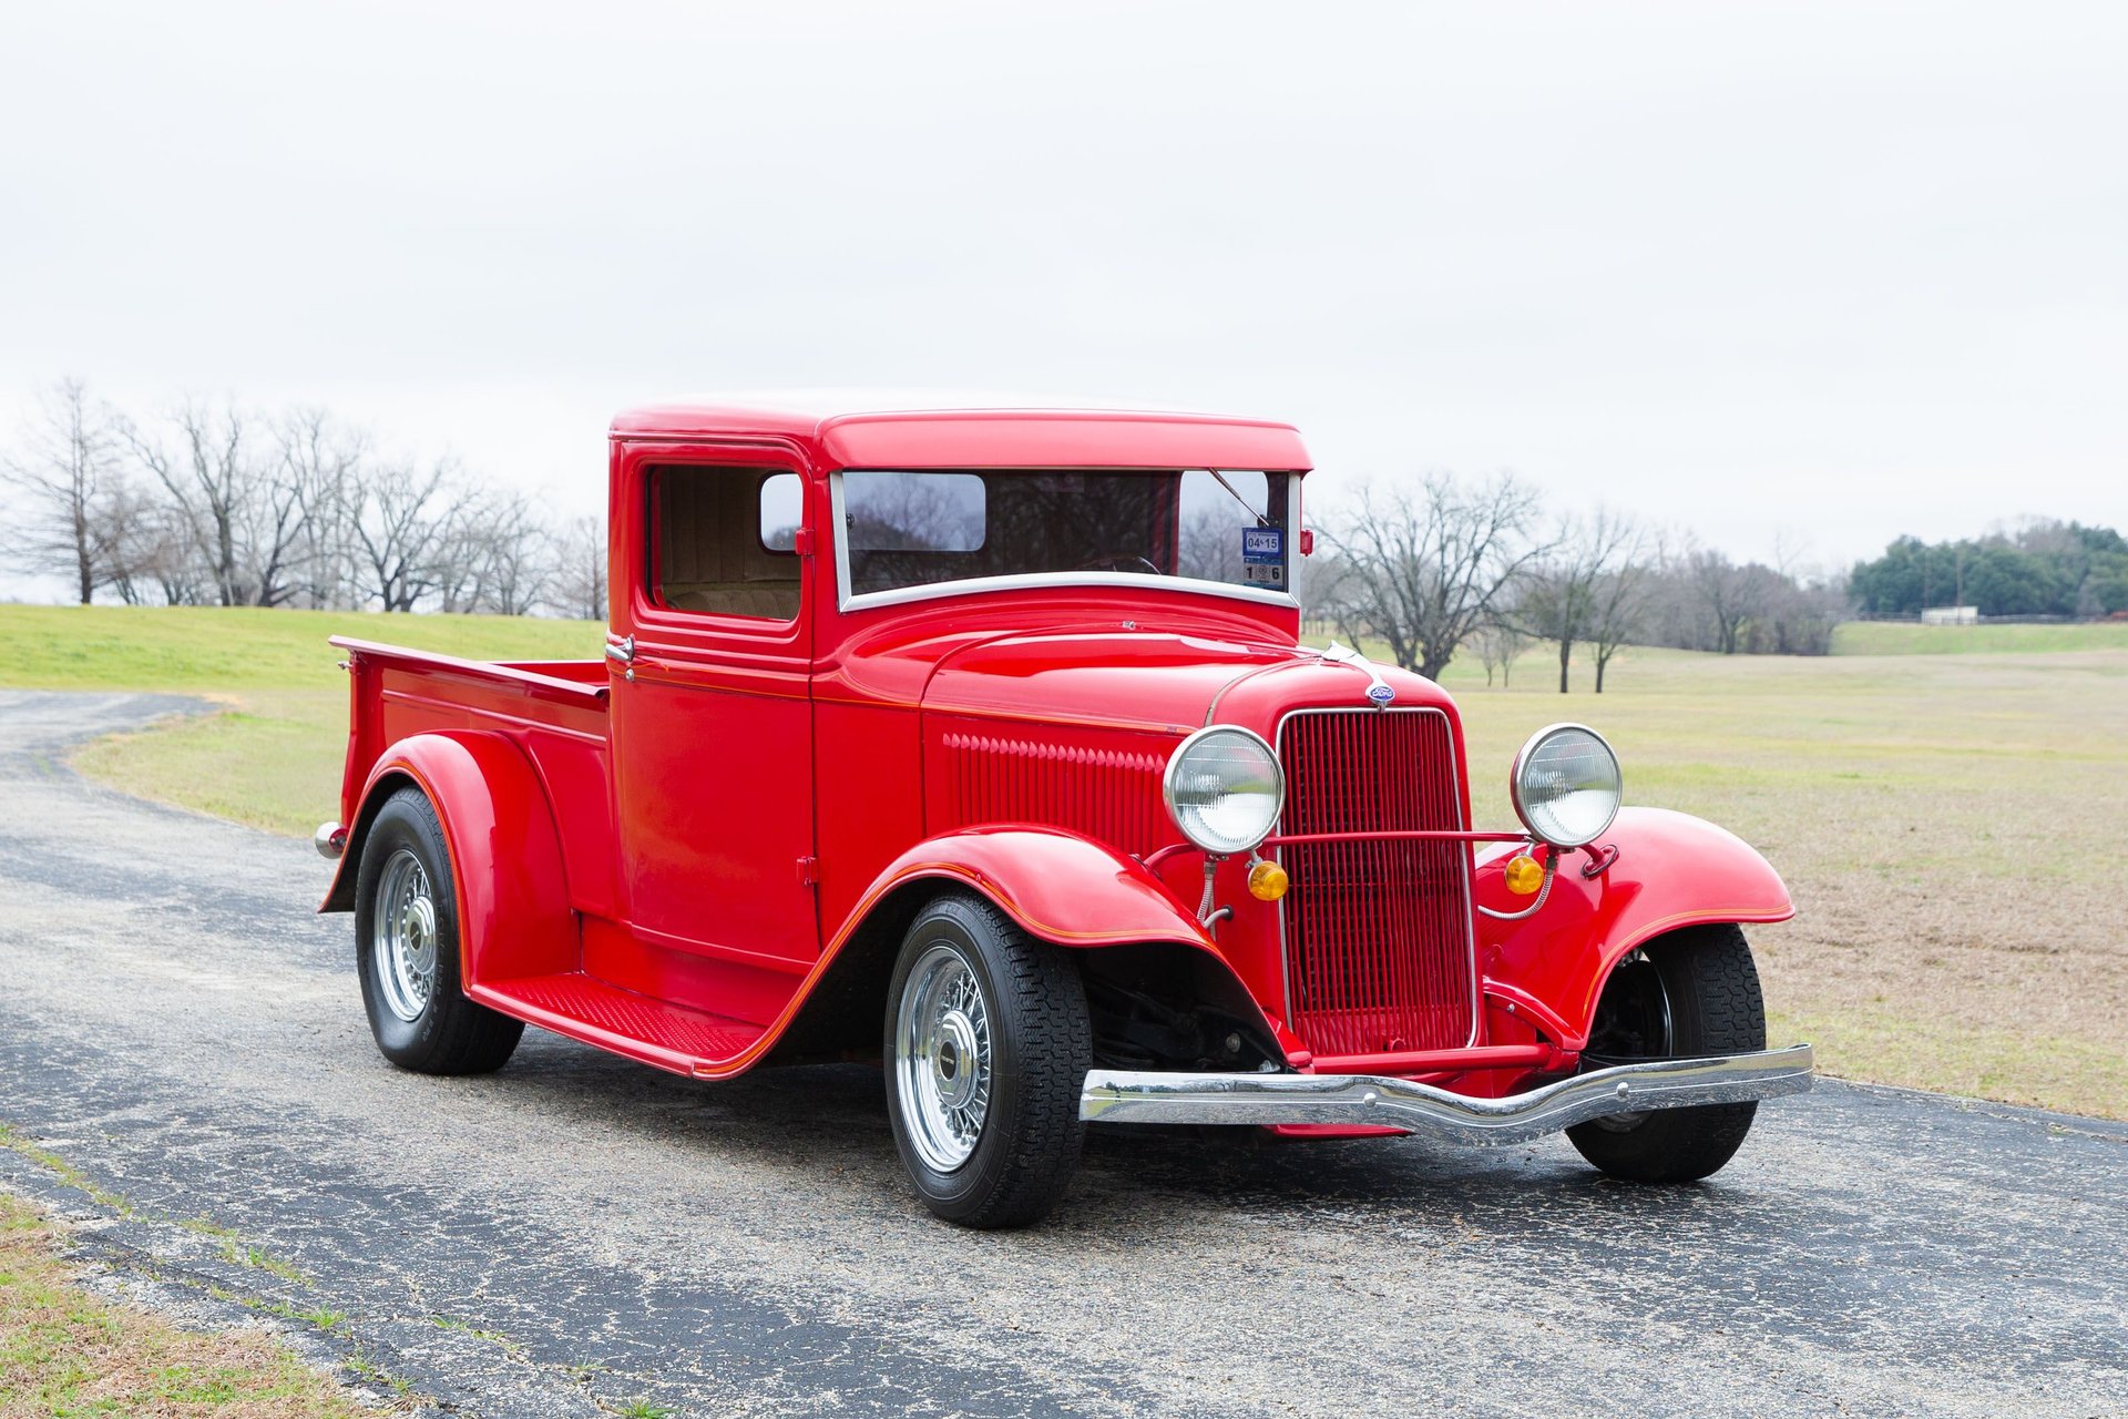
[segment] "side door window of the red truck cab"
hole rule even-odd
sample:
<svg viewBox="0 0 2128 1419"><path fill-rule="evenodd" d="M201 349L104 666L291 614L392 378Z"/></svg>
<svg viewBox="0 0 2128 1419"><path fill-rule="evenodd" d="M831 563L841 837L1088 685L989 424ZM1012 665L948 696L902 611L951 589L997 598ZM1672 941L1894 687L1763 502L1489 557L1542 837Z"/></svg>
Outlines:
<svg viewBox="0 0 2128 1419"><path fill-rule="evenodd" d="M804 485L777 468L651 470L651 600L672 611L798 619Z"/></svg>

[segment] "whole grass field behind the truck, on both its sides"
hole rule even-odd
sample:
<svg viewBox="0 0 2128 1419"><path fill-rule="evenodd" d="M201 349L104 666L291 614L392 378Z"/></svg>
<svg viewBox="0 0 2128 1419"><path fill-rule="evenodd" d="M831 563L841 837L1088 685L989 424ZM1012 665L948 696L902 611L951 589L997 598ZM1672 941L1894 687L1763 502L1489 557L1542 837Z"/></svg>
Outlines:
<svg viewBox="0 0 2128 1419"><path fill-rule="evenodd" d="M81 768L309 834L347 732L334 632L496 660L600 645L562 621L0 606L0 685L213 696L226 713L92 745ZM1932 640L1990 632L1981 651ZM1539 651L1513 687L1456 664L1479 819L1513 823L1522 738L1587 721L1630 802L1724 823L1794 889L1798 919L1753 932L1777 1042L1811 1038L1853 1079L2128 1117L2128 911L2100 847L2128 821L2128 634L1849 625L1839 651L1628 651L1600 698L1581 666L1556 694Z"/></svg>

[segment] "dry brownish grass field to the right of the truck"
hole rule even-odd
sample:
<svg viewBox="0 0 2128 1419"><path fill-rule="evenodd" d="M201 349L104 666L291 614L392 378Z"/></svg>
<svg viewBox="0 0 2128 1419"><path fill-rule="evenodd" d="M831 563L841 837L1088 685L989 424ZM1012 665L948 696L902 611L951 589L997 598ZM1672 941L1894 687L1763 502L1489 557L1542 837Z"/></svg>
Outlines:
<svg viewBox="0 0 2128 1419"><path fill-rule="evenodd" d="M1551 691L1543 689L1549 670ZM1834 1074L2128 1117L2128 651L1641 651L1602 698L1449 674L1481 817L1541 723L1619 749L1628 800L1709 817L1788 879L1756 928L1777 1038Z"/></svg>

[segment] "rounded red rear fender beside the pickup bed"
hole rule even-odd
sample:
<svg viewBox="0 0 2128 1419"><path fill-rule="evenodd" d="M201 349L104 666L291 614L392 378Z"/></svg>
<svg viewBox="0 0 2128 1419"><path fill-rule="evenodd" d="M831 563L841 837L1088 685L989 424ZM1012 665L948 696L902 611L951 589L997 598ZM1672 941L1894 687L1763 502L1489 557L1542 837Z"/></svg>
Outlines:
<svg viewBox="0 0 2128 1419"><path fill-rule="evenodd" d="M445 730L392 745L370 768L319 911L353 911L370 823L404 785L436 808L458 883L462 981L575 970L579 942L553 808L532 759L502 734Z"/></svg>

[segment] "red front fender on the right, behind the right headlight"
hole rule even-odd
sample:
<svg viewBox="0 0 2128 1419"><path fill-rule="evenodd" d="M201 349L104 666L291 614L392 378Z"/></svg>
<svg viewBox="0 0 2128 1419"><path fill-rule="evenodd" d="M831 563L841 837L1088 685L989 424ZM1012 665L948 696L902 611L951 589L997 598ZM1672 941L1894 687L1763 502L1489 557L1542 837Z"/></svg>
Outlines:
<svg viewBox="0 0 2128 1419"><path fill-rule="evenodd" d="M1479 917L1479 970L1490 1006L1556 1036L1566 1049L1587 1045L1596 998L1611 968L1662 932L1711 921L1788 921L1788 885L1743 838L1705 819L1666 808L1622 808L1600 838L1617 862L1594 879L1585 853L1568 853L1545 906L1528 921ZM1500 881L1513 847L1479 857L1477 900L1519 911L1530 898Z"/></svg>

